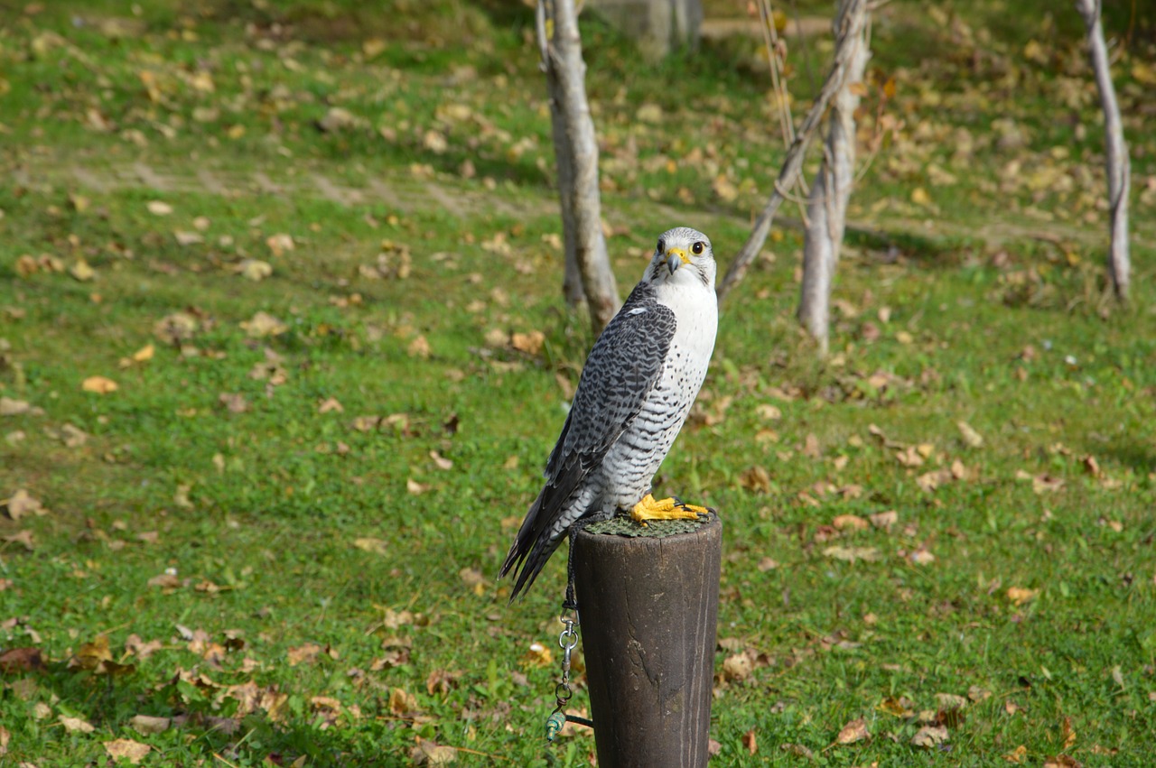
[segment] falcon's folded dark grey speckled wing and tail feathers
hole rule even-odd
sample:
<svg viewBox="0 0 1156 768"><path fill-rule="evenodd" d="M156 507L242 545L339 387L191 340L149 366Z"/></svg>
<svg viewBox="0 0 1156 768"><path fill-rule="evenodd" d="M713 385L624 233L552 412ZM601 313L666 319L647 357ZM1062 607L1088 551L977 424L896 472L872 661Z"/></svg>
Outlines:
<svg viewBox="0 0 1156 768"><path fill-rule="evenodd" d="M562 542L562 530L591 512L572 509L573 497L642 410L662 371L676 325L674 313L655 300L653 290L639 284L594 343L546 463L546 485L502 565L499 577L510 571L517 574L511 602L534 583ZM573 520L558 528L568 515Z"/></svg>

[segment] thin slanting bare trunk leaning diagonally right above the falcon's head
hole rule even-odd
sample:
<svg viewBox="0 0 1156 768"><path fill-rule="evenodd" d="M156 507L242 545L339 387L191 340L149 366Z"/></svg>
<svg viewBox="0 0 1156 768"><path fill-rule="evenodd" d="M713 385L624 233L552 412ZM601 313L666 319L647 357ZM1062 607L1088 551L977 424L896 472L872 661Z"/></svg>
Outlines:
<svg viewBox="0 0 1156 768"><path fill-rule="evenodd" d="M851 53L849 42L859 39L862 36L866 13L867 0L847 0L842 15L842 25L836 30L835 61L831 65L831 70L828 73L827 80L823 81L823 88L818 91L818 96L815 97L815 103L812 104L810 111L803 118L802 126L799 127L799 133L795 134L794 141L791 142L787 156L783 161L783 169L779 171L779 177L775 180L775 192L771 193L770 200L766 201L763 212L755 219L750 237L747 238L742 249L739 251L734 261L731 262L726 276L719 284L719 301L726 298L731 289L742 281L747 274L747 269L750 267L750 262L762 251L763 243L766 241L766 234L771 231L771 222L775 219L775 214L778 211L779 206L783 204L783 201L786 200L786 191L794 185L799 178L799 173L802 171L803 156L807 152L807 147L810 144L812 137L815 135L815 131L818 128L818 124L822 121L823 114L827 112L827 106L846 79Z"/></svg>

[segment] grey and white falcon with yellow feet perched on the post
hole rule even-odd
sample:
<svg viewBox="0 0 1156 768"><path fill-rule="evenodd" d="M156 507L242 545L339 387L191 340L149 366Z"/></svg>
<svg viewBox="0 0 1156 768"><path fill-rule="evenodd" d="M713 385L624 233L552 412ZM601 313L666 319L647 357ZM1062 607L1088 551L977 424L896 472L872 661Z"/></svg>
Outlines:
<svg viewBox="0 0 1156 768"><path fill-rule="evenodd" d="M546 485L529 506L498 577L513 602L578 521L695 519L705 507L655 499L651 483L706 376L718 329L714 253L696 230L658 239L650 266L583 367Z"/></svg>

